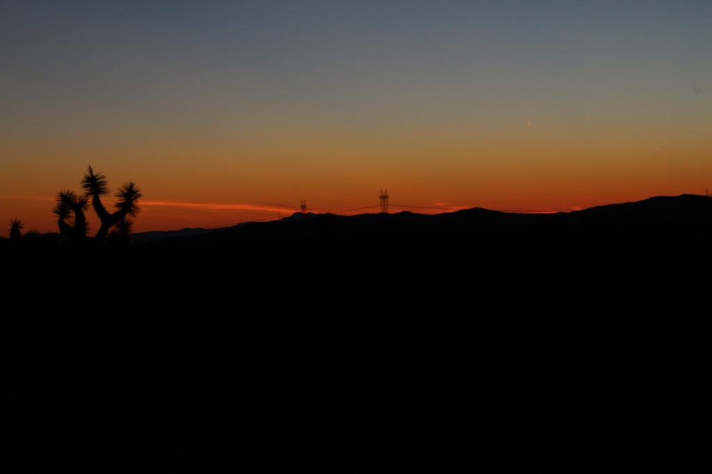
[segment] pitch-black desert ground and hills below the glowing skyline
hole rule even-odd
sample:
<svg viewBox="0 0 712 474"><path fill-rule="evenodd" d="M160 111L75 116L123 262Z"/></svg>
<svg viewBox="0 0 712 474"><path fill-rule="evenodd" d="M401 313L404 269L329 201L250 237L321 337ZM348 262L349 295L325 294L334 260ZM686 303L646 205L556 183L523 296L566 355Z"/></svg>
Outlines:
<svg viewBox="0 0 712 474"><path fill-rule="evenodd" d="M5 472L709 472L712 199L0 244Z"/></svg>

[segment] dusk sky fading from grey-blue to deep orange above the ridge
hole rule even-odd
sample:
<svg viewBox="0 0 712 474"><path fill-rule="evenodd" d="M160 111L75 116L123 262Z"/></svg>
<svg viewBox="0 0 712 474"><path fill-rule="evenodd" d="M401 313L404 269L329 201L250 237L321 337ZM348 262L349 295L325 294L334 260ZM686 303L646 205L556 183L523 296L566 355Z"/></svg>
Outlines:
<svg viewBox="0 0 712 474"><path fill-rule="evenodd" d="M0 232L712 191L712 1L0 1ZM106 199L110 204L110 199ZM90 225L98 229L93 211Z"/></svg>

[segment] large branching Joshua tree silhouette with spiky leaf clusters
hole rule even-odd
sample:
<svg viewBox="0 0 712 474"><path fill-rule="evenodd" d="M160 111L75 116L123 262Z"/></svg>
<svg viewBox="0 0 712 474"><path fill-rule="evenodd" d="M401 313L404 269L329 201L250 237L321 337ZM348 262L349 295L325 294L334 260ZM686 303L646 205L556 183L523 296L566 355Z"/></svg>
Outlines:
<svg viewBox="0 0 712 474"><path fill-rule="evenodd" d="M102 241L107 235L127 236L133 226L132 217L137 216L141 208L138 200L141 199L141 190L135 183L122 184L115 196L118 201L114 206L115 212L109 212L101 202L101 196L109 194L108 181L103 173L94 172L88 167L81 181L84 189L83 196L74 191L60 191L57 194L57 204L52 212L58 216L59 230L70 240L79 241L86 237L89 231L85 218L91 199L92 207L101 221L101 226L95 234L95 240Z"/></svg>

